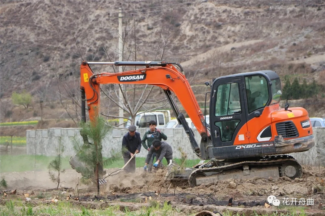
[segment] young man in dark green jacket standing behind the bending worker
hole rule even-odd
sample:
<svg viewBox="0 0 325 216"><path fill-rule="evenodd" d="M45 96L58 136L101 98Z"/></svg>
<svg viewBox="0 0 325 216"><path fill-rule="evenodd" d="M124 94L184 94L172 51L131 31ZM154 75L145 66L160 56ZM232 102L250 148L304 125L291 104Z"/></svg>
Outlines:
<svg viewBox="0 0 325 216"><path fill-rule="evenodd" d="M156 126L157 126L156 121L154 121L154 120L149 121L150 129L142 137L142 146L143 146L143 148L147 149L148 152L150 150L152 141L154 141L154 140L162 141L162 139L167 140L167 136L164 133L162 133L162 131L157 129ZM147 145L146 145L146 140L147 140ZM156 153L153 153L151 155L151 158L149 161L149 167L148 167L149 172L151 172L154 157L156 157Z"/></svg>

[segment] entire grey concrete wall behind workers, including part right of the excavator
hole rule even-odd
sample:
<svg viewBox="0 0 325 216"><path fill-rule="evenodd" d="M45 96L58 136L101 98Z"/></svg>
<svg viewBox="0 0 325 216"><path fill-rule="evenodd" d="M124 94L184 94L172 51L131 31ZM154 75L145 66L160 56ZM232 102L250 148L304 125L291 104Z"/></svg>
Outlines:
<svg viewBox="0 0 325 216"><path fill-rule="evenodd" d="M65 156L74 154L71 139L73 137L82 140L78 128L49 128L43 130L27 130L27 154L37 154L53 156L56 155L56 148L61 137L61 144L64 145ZM137 129L142 135L147 129ZM188 155L188 159L198 159L193 153L189 139L183 128L161 129L168 137L167 142L173 147L173 156L180 158L179 147ZM292 153L292 155L303 165L324 166L325 167L325 128L313 128L315 135L315 146L306 152ZM201 136L196 130L193 130L195 139L201 142ZM120 151L123 135L127 133L125 129L113 129L111 134L105 137L103 142L103 156L110 156L111 150ZM148 151L141 147L138 157L146 157Z"/></svg>

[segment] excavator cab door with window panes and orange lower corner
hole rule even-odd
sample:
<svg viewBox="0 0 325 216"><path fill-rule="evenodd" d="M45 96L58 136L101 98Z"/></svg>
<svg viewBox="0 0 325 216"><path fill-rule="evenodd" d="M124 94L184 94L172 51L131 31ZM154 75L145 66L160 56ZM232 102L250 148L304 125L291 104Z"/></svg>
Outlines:
<svg viewBox="0 0 325 216"><path fill-rule="evenodd" d="M217 79L213 83L210 127L215 155L227 151L227 148L222 150L219 147L249 143L243 81L243 77L240 76Z"/></svg>

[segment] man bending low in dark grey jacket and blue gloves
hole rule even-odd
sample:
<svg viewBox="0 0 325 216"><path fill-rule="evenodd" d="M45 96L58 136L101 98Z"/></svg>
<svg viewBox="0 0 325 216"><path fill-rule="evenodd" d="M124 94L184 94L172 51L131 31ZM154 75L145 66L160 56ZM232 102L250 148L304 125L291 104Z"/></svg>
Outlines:
<svg viewBox="0 0 325 216"><path fill-rule="evenodd" d="M163 167L162 158L164 157L167 160L167 164L169 164L170 160L173 159L172 147L167 142L154 140L152 141L149 153L147 154L145 166L143 168L145 171L147 171L147 165L149 164L151 155L153 153L156 153L156 163L153 164L154 167Z"/></svg>

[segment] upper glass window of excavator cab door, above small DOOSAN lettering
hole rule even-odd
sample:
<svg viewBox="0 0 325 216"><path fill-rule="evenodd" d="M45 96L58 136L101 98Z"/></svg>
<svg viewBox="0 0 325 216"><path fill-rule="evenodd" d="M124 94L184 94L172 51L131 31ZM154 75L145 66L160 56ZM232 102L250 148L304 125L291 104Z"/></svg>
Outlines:
<svg viewBox="0 0 325 216"><path fill-rule="evenodd" d="M225 83L218 86L215 102L215 116L241 113L238 83Z"/></svg>

